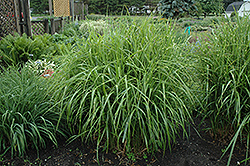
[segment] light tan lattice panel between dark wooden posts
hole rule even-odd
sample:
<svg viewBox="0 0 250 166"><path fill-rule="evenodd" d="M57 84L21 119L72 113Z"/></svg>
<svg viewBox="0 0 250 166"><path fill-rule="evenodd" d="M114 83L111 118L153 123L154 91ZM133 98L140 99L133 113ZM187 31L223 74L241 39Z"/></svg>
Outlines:
<svg viewBox="0 0 250 166"><path fill-rule="evenodd" d="M70 16L69 0L53 0L55 17Z"/></svg>

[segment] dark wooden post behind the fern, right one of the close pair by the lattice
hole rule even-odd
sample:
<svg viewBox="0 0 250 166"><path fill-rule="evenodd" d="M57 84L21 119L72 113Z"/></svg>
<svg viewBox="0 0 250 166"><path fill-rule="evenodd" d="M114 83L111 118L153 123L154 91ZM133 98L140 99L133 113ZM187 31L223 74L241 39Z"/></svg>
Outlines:
<svg viewBox="0 0 250 166"><path fill-rule="evenodd" d="M27 36L32 36L31 32L31 22L30 22L30 2L29 0L23 0L23 17L26 27Z"/></svg>

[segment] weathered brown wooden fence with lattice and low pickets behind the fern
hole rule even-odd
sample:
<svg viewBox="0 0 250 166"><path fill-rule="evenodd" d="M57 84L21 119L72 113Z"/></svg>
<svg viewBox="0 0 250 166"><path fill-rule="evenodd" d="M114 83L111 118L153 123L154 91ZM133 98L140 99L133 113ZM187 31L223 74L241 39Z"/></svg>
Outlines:
<svg viewBox="0 0 250 166"><path fill-rule="evenodd" d="M83 4L81 6L84 7ZM77 9L80 11L80 8ZM0 0L0 39L8 34L26 33L28 36L55 34L70 21L85 19L83 12L73 17L50 18L31 21L29 0Z"/></svg>

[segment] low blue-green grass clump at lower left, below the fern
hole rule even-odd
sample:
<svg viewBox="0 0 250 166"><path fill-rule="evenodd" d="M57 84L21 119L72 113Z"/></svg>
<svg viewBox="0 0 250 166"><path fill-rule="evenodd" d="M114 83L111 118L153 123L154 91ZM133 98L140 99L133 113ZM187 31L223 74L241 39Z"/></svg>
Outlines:
<svg viewBox="0 0 250 166"><path fill-rule="evenodd" d="M0 151L24 155L27 149L45 147L48 141L57 145L59 115L48 81L26 68L1 73Z"/></svg>

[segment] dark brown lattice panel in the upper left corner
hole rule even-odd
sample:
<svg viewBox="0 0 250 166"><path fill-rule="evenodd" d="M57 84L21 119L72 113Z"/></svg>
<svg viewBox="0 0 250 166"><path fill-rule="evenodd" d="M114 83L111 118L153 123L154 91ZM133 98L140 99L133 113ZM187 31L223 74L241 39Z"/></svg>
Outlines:
<svg viewBox="0 0 250 166"><path fill-rule="evenodd" d="M17 32L14 3L14 0L0 0L0 37Z"/></svg>

